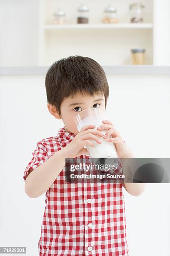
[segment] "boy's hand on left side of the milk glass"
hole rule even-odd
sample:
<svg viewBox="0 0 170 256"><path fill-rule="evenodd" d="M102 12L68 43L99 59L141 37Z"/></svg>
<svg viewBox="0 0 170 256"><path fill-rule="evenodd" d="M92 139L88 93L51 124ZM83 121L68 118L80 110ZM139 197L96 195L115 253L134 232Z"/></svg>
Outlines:
<svg viewBox="0 0 170 256"><path fill-rule="evenodd" d="M74 158L84 154L89 154L84 146L95 146L90 139L96 141L98 144L102 143L98 136L102 137L103 134L94 129L95 126L96 125L85 125L81 128L80 132L77 133L73 140L64 148L66 158Z"/></svg>

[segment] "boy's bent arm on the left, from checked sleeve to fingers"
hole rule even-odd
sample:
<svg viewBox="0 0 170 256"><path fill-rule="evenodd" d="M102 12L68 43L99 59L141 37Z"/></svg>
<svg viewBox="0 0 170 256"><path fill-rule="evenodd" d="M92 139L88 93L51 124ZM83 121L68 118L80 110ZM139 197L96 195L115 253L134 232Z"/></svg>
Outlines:
<svg viewBox="0 0 170 256"><path fill-rule="evenodd" d="M29 197L39 197L49 189L65 166L66 158L87 154L88 151L84 148L84 145L95 146L91 140L101 143L98 136L102 137L103 134L100 131L94 130L94 127L95 125L83 126L67 146L54 153L47 160L45 159L47 156L43 150L42 143L37 144L32 161L26 168L24 175L25 192ZM30 168L35 169L35 171L30 172Z"/></svg>

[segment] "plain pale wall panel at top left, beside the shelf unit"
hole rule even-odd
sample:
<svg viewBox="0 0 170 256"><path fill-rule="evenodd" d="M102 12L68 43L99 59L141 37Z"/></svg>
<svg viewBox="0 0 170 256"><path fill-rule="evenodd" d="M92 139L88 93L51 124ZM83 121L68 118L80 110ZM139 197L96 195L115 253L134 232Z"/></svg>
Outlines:
<svg viewBox="0 0 170 256"><path fill-rule="evenodd" d="M38 1L0 0L0 66L38 64Z"/></svg>

